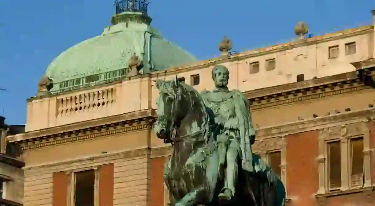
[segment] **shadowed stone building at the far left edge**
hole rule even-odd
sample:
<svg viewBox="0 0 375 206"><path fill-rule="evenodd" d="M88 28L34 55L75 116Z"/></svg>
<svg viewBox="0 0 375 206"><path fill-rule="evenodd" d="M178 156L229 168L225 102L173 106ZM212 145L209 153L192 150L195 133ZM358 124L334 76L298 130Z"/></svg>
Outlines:
<svg viewBox="0 0 375 206"><path fill-rule="evenodd" d="M6 136L24 133L24 125L7 125L0 116L0 205L22 206L25 166L16 157L20 154L11 144L6 144Z"/></svg>

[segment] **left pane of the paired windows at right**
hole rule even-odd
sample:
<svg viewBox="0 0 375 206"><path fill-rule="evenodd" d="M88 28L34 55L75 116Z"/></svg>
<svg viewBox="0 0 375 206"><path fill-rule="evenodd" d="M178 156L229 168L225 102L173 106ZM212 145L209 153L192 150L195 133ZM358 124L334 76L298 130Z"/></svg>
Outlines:
<svg viewBox="0 0 375 206"><path fill-rule="evenodd" d="M327 144L328 187L330 191L341 188L341 144L340 141Z"/></svg>

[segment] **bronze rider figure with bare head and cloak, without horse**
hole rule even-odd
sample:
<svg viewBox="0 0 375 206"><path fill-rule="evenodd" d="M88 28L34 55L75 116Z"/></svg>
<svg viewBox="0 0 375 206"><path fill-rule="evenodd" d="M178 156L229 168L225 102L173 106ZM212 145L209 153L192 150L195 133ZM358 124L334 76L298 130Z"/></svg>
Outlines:
<svg viewBox="0 0 375 206"><path fill-rule="evenodd" d="M202 91L206 106L212 110L219 134L219 176L225 179L225 186L219 194L222 200L230 200L236 192L238 162L242 169L254 171L251 145L255 130L251 122L249 102L239 90L230 91L227 87L229 70L218 65L212 69L212 79L216 88ZM225 174L225 175L224 175Z"/></svg>

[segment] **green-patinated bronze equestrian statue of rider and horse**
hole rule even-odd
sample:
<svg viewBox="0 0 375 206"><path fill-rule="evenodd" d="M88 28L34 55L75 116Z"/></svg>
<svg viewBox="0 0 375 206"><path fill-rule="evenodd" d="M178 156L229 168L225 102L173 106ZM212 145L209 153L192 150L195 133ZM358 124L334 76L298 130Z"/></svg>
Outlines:
<svg viewBox="0 0 375 206"><path fill-rule="evenodd" d="M171 206L284 206L281 179L253 154L249 102L229 90L229 71L212 69L216 88L200 94L178 81L157 80L157 137L172 145L164 167Z"/></svg>

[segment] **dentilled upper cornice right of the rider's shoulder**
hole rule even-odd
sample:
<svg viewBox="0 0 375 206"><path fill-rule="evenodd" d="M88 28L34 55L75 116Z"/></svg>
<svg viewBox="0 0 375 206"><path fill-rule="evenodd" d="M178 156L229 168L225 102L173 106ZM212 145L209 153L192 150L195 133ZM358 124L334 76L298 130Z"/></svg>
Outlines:
<svg viewBox="0 0 375 206"><path fill-rule="evenodd" d="M245 92L251 110L365 90L356 72Z"/></svg>

